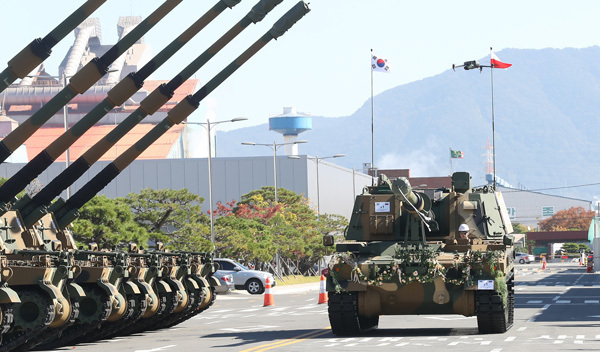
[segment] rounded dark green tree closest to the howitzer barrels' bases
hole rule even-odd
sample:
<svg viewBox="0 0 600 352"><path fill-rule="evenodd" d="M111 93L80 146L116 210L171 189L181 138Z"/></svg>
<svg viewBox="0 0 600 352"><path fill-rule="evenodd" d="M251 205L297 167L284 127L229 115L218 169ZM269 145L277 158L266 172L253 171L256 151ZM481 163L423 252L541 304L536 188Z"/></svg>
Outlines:
<svg viewBox="0 0 600 352"><path fill-rule="evenodd" d="M113 249L129 242L142 245L148 242L148 232L134 221L129 206L103 195L95 196L81 207L72 232L78 246L96 242L100 248Z"/></svg>

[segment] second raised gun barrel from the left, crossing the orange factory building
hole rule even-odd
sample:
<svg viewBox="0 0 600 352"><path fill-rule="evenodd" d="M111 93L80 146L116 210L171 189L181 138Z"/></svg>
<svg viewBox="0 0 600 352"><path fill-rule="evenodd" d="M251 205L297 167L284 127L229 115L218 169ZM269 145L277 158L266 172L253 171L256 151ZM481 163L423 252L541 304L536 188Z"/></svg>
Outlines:
<svg viewBox="0 0 600 352"><path fill-rule="evenodd" d="M21 146L35 131L56 114L77 94L85 93L94 83L108 72L109 66L127 49L135 44L144 34L154 27L163 17L179 5L183 0L166 0L150 16L138 24L131 32L112 46L100 58L95 58L77 72L69 84L55 95L40 110L35 112L25 122L9 133L0 142L0 162L4 162L19 146Z"/></svg>

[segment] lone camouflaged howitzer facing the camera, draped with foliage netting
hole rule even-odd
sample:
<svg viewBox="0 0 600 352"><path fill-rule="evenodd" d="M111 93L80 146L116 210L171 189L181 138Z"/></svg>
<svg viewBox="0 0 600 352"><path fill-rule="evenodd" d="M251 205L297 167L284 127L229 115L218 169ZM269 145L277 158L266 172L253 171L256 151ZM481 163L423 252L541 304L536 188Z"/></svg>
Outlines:
<svg viewBox="0 0 600 352"><path fill-rule="evenodd" d="M459 238L462 224L468 239ZM425 191L381 175L356 197L346 241L327 270L333 333L360 334L377 327L380 315L413 314L477 316L481 333L507 331L511 232L502 195L490 186L471 189L466 172L452 175L452 189Z"/></svg>

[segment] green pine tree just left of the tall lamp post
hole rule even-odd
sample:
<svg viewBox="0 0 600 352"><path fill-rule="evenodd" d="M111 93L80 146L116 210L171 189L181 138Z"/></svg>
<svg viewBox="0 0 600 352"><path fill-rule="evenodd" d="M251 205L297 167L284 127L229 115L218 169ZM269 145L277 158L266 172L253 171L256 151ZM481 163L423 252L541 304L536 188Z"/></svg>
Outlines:
<svg viewBox="0 0 600 352"><path fill-rule="evenodd" d="M154 242L170 248L191 251L212 250L208 217L202 214L204 198L187 189L146 188L123 199L135 220L150 233Z"/></svg>

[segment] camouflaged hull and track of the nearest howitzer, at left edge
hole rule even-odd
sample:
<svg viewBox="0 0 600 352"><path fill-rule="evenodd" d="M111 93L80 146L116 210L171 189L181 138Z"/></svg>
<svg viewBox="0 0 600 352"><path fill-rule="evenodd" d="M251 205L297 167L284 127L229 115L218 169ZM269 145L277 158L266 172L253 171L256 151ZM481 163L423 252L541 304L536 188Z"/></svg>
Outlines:
<svg viewBox="0 0 600 352"><path fill-rule="evenodd" d="M17 293L20 302L12 302L13 323L3 329L0 349L32 347L77 318L78 302L85 296L74 282L80 271L59 241L45 247L37 226L22 228L18 212L5 213L2 222L7 270L3 284Z"/></svg>

